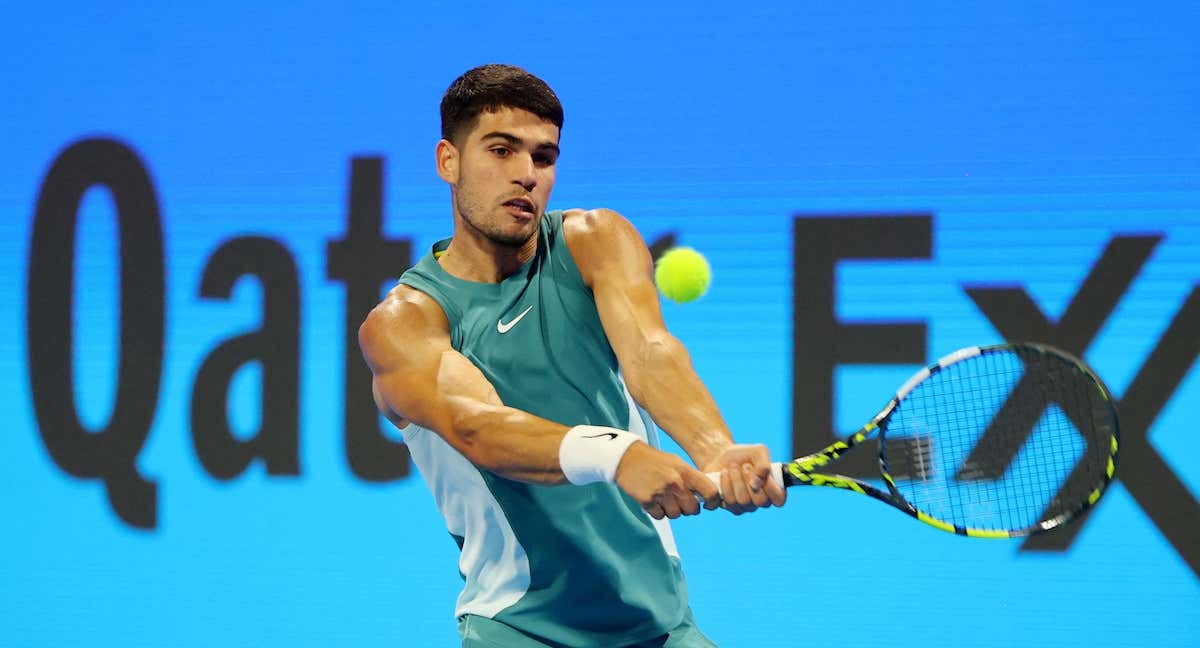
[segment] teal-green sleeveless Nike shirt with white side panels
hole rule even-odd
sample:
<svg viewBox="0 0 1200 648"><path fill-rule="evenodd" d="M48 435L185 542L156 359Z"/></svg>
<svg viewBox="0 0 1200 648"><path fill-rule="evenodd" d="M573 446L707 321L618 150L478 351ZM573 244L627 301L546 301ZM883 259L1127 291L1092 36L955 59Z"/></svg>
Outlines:
<svg viewBox="0 0 1200 648"><path fill-rule="evenodd" d="M445 272L439 241L400 282L433 298L450 340L504 404L563 425L629 430L658 445L563 239L563 214L542 217L538 251L500 283ZM666 521L617 486L539 486L470 464L436 433L403 430L413 461L458 541L466 584L455 613L505 623L564 646L622 646L660 636L688 595Z"/></svg>

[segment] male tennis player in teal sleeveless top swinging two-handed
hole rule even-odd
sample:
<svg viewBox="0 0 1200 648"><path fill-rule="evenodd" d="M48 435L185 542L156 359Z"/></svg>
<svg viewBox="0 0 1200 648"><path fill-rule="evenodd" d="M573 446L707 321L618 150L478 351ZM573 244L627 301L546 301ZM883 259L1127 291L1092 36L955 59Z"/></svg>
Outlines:
<svg viewBox="0 0 1200 648"><path fill-rule="evenodd" d="M734 514L785 494L667 332L637 230L545 211L562 125L554 92L517 67L446 90L454 236L359 331L374 398L462 551L463 646L713 646L666 518L722 503L704 472ZM700 470L656 449L655 422Z"/></svg>

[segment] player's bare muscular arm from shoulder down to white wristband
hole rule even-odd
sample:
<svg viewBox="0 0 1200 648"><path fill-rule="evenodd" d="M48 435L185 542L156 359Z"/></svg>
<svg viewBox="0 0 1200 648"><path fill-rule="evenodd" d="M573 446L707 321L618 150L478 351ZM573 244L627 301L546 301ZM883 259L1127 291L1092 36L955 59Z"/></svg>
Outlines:
<svg viewBox="0 0 1200 648"><path fill-rule="evenodd" d="M397 426L437 432L475 466L534 484L563 484L558 446L566 427L505 407L496 388L450 346L449 324L428 295L401 286L359 329L374 374L376 404Z"/></svg>

